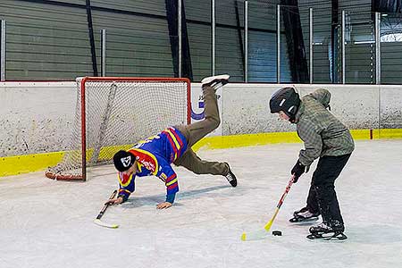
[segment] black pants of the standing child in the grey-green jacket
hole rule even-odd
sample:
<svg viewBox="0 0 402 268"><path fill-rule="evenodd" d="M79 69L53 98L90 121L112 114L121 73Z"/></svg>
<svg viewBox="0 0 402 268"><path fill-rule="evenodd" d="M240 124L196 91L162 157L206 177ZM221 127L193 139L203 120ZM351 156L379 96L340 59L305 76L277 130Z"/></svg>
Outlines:
<svg viewBox="0 0 402 268"><path fill-rule="evenodd" d="M334 183L348 163L349 157L350 154L322 156L313 173L307 197L307 208L312 213L320 212L322 222L338 221L343 224Z"/></svg>

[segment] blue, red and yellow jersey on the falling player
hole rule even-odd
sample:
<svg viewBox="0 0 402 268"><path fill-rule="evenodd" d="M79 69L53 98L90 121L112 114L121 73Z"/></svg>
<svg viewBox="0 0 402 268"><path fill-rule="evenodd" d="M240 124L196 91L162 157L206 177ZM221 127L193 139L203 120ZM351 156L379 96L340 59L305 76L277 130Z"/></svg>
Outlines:
<svg viewBox="0 0 402 268"><path fill-rule="evenodd" d="M136 172L130 176L118 173L119 196L124 201L135 190L135 178L155 175L163 180L166 186L166 201L173 201L179 191L176 172L172 163L187 150L187 140L179 130L168 128L153 137L138 142L128 151L136 156ZM172 202L171 202L172 203Z"/></svg>

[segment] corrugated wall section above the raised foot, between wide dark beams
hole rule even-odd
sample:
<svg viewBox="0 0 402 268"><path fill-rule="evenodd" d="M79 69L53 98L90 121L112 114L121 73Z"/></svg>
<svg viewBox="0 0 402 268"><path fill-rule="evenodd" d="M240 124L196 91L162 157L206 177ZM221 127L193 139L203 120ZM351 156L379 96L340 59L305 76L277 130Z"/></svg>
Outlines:
<svg viewBox="0 0 402 268"><path fill-rule="evenodd" d="M276 6L249 1L248 81L276 82ZM212 72L211 0L185 1L194 79ZM244 80L244 2L217 0L216 70L230 73L231 81ZM240 28L240 30L239 30ZM284 40L282 40L284 42ZM281 76L289 81L286 44L282 44Z"/></svg>

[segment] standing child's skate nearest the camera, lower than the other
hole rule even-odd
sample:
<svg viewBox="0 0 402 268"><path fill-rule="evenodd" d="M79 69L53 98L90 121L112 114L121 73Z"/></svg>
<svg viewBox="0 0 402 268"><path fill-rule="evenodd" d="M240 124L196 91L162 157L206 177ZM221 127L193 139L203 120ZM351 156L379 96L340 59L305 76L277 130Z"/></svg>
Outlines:
<svg viewBox="0 0 402 268"><path fill-rule="evenodd" d="M339 221L332 221L331 224L322 222L310 227L310 234L307 239L345 240L348 237L343 233L344 230L345 227Z"/></svg>

